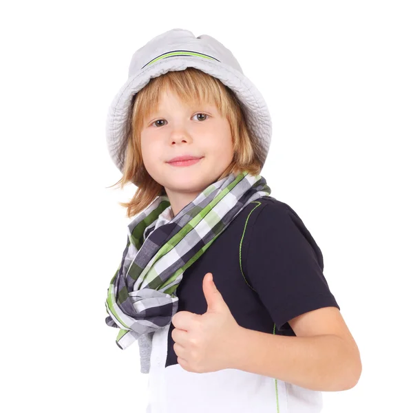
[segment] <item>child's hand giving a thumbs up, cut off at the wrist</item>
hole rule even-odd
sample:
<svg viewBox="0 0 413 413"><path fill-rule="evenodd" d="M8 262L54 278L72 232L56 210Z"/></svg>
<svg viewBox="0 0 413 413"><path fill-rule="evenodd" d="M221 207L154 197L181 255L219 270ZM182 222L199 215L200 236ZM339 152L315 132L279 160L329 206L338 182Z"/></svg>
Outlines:
<svg viewBox="0 0 413 413"><path fill-rule="evenodd" d="M205 275L202 289L207 299L207 313L178 311L172 317L171 337L178 363L189 372L215 372L233 368L240 346L242 327L237 324L211 273Z"/></svg>

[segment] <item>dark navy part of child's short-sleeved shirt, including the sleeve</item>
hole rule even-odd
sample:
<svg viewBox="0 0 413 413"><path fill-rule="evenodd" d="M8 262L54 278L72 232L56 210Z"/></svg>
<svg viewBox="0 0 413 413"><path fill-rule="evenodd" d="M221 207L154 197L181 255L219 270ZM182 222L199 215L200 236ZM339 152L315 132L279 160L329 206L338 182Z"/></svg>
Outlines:
<svg viewBox="0 0 413 413"><path fill-rule="evenodd" d="M265 196L247 204L187 268L176 290L178 311L207 312L202 281L212 273L240 326L295 336L290 319L317 308L339 308L323 269L321 250L297 213ZM173 328L171 324L165 367L178 363Z"/></svg>

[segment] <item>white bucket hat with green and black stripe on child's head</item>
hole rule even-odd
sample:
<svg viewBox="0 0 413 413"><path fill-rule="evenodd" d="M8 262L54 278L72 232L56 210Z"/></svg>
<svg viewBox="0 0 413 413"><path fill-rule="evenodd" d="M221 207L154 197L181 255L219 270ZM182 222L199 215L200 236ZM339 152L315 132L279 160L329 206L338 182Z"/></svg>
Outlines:
<svg viewBox="0 0 413 413"><path fill-rule="evenodd" d="M187 67L195 67L218 78L235 92L248 128L262 147L259 156L264 166L271 143L272 123L262 94L244 76L237 59L222 43L207 34L195 37L189 30L177 28L159 34L134 53L127 82L112 100L107 114L106 138L109 154L116 167L123 172L134 95L151 78Z"/></svg>

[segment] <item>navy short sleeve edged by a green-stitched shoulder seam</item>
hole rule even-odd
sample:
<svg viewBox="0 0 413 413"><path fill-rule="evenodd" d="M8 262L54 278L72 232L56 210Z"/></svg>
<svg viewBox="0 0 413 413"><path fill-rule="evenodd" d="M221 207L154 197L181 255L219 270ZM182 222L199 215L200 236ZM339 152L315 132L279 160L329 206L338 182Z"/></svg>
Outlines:
<svg viewBox="0 0 413 413"><path fill-rule="evenodd" d="M278 330L308 311L339 308L323 274L321 250L288 204L257 208L246 238L246 277Z"/></svg>

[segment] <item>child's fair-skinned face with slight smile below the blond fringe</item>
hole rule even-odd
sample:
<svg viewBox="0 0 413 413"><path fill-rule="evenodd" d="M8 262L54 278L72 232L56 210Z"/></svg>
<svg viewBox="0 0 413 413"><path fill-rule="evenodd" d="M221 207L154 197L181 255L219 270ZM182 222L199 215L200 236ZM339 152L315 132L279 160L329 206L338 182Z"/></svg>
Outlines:
<svg viewBox="0 0 413 413"><path fill-rule="evenodd" d="M193 198L215 182L233 160L228 120L211 105L187 107L171 92L160 96L158 111L144 119L142 158L149 175L160 183L169 198ZM202 157L193 165L167 163L176 156Z"/></svg>

